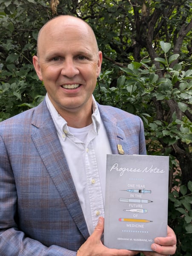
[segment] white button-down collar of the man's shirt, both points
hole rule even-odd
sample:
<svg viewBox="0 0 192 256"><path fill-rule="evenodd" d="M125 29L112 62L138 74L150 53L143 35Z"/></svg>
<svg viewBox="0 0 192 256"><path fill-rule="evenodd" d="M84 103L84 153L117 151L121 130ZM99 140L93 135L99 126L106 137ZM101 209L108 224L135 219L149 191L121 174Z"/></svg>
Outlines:
<svg viewBox="0 0 192 256"><path fill-rule="evenodd" d="M46 93L46 105L47 108L52 116L54 125L57 129L57 132L62 136L63 132L65 134L69 134L72 135L69 132L69 128L67 126L67 122L66 120L60 116L60 114L57 112L57 110L54 108L54 105L52 104L52 102L49 99L48 94ZM99 109L97 106L97 102L95 101L94 96L92 95L92 123L93 123L93 129L95 131L96 134L98 134L99 128L100 128L100 122L101 122L101 118L100 118L100 113L99 113ZM73 136L73 135L72 135Z"/></svg>

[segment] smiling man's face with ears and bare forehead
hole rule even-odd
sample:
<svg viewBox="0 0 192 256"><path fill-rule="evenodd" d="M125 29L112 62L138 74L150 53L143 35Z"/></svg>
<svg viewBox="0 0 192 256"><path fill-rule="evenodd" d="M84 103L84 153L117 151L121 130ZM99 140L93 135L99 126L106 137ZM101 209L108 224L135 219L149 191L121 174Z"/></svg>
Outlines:
<svg viewBox="0 0 192 256"><path fill-rule="evenodd" d="M33 59L37 75L61 116L65 111L90 111L102 53L85 24L54 22L40 34L38 58Z"/></svg>

